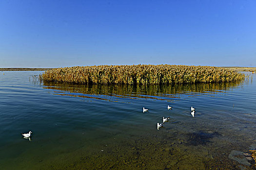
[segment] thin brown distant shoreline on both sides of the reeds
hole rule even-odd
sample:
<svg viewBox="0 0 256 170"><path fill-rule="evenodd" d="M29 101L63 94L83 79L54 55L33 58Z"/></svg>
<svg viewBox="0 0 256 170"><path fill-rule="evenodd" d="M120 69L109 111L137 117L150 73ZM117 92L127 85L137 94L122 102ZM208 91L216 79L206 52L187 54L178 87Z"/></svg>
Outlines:
<svg viewBox="0 0 256 170"><path fill-rule="evenodd" d="M256 71L256 67L219 67L235 71ZM46 71L53 68L0 68L0 71Z"/></svg>

